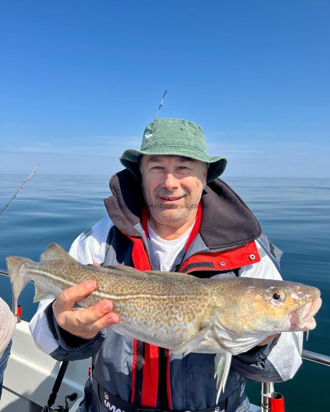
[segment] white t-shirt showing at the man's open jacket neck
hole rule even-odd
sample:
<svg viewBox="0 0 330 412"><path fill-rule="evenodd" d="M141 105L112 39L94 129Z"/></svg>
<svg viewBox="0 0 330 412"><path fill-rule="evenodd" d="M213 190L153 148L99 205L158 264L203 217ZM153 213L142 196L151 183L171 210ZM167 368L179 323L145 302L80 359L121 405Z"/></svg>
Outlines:
<svg viewBox="0 0 330 412"><path fill-rule="evenodd" d="M157 233L151 229L148 220L148 235L152 249L158 260L161 270L168 272L172 269L175 258L177 257L181 249L186 245L189 235L193 230L194 224L195 221L189 227L189 229L180 236L180 238L174 240L165 240L158 236Z"/></svg>

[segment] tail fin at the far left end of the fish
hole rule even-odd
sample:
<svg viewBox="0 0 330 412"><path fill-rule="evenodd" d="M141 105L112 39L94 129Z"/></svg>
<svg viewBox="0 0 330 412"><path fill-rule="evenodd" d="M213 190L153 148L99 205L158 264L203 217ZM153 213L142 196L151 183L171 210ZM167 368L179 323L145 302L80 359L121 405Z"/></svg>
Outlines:
<svg viewBox="0 0 330 412"><path fill-rule="evenodd" d="M10 276L10 281L13 285L14 297L17 300L24 286L29 283L33 277L25 270L25 263L34 263L33 260L27 257L7 256L7 269Z"/></svg>

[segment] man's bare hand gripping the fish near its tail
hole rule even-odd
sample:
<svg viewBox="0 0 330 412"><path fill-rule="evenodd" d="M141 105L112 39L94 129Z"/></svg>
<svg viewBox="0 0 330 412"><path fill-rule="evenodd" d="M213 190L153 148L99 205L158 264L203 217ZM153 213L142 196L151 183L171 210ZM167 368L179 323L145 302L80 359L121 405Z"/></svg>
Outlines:
<svg viewBox="0 0 330 412"><path fill-rule="evenodd" d="M111 312L111 301L99 301L87 309L72 310L75 302L85 298L96 288L93 280L63 290L53 302L53 312L61 328L83 339L93 338L99 331L119 321Z"/></svg>

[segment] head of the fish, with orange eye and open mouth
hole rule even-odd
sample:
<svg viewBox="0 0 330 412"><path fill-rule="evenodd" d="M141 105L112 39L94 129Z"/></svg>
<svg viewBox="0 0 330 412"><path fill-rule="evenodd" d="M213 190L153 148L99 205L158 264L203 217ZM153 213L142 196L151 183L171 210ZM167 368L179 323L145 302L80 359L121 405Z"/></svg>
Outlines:
<svg viewBox="0 0 330 412"><path fill-rule="evenodd" d="M225 304L216 311L216 323L221 327L239 335L315 328L314 315L322 303L316 287L269 279L240 281L228 295L227 308Z"/></svg>

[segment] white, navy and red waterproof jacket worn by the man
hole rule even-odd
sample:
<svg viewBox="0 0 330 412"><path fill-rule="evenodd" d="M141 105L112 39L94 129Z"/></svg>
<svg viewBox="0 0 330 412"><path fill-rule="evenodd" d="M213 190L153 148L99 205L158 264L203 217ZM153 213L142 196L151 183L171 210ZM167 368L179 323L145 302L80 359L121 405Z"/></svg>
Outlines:
<svg viewBox="0 0 330 412"><path fill-rule="evenodd" d="M108 216L82 233L70 254L82 264L158 270L148 241L140 186L124 170L112 177L110 188L113 195L104 200ZM242 199L216 179L203 190L195 226L186 247L178 251L172 271L203 278L281 279L269 256L278 261L281 253L262 234L259 222ZM49 301L41 302L30 330L38 348L57 360L92 356L92 379L85 387L83 412L111 407L106 398L102 399L98 385L125 401L167 411L204 410L215 404L214 354L190 353L183 358L168 349L119 335L111 328L86 341L59 327ZM245 378L291 378L301 364L300 352L301 333L281 333L263 347L232 357L225 393L220 397L220 402L227 399L226 412L249 410Z"/></svg>

